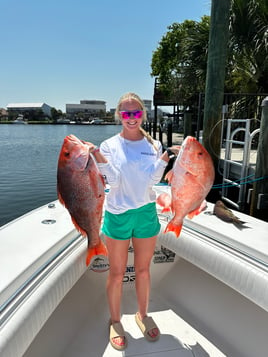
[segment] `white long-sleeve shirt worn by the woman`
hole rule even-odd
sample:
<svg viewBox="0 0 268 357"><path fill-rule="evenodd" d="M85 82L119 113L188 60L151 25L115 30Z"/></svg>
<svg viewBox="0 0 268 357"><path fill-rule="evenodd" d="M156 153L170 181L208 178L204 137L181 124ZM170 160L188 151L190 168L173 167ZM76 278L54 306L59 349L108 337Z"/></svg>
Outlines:
<svg viewBox="0 0 268 357"><path fill-rule="evenodd" d="M100 151L108 163L98 163L102 175L110 185L105 209L120 214L155 202L152 189L164 173L167 163L160 159L162 146L155 140L158 151L146 138L138 141L124 139L117 134L105 140Z"/></svg>

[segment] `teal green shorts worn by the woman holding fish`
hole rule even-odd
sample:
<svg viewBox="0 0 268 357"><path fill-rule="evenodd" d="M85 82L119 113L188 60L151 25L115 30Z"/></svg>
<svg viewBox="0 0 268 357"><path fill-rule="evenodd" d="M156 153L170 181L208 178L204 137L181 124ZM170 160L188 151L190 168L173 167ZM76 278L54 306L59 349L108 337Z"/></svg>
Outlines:
<svg viewBox="0 0 268 357"><path fill-rule="evenodd" d="M113 239L150 238L160 231L155 203L148 203L124 213L105 211L102 232Z"/></svg>

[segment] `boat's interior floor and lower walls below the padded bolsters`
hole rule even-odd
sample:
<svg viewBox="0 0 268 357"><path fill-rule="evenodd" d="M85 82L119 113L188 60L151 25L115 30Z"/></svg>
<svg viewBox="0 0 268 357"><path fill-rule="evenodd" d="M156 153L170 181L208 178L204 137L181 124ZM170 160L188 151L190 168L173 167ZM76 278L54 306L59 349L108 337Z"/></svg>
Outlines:
<svg viewBox="0 0 268 357"><path fill-rule="evenodd" d="M131 257L130 257L131 261ZM262 357L268 313L184 259L152 264L151 315L161 331L147 342L136 325L133 282L123 288L128 347L109 344L107 273L87 271L47 320L23 357ZM126 279L127 280L127 279Z"/></svg>

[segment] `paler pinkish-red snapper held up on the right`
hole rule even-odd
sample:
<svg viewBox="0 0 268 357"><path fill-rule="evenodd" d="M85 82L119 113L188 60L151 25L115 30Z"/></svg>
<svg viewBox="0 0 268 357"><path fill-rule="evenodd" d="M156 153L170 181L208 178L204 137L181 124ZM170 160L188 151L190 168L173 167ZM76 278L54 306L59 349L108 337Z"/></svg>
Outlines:
<svg viewBox="0 0 268 357"><path fill-rule="evenodd" d="M170 210L174 214L165 233L172 231L179 237L184 217L193 218L206 208L205 198L214 177L214 165L209 153L194 137L187 136L172 170L165 176L171 184L170 204L167 206L166 193L160 194L156 200L164 206L163 212Z"/></svg>

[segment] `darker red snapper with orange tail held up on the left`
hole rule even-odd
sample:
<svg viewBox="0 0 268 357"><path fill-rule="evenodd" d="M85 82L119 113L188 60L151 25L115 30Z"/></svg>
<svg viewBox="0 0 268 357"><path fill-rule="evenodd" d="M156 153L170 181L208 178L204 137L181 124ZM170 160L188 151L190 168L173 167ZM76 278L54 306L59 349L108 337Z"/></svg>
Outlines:
<svg viewBox="0 0 268 357"><path fill-rule="evenodd" d="M74 135L66 136L57 172L59 201L68 209L76 229L88 239L87 265L95 255L107 256L99 235L105 197L104 179L89 153L88 144Z"/></svg>

